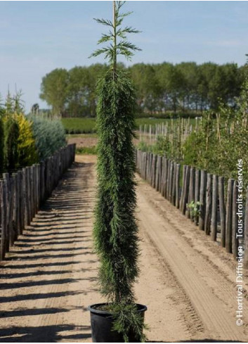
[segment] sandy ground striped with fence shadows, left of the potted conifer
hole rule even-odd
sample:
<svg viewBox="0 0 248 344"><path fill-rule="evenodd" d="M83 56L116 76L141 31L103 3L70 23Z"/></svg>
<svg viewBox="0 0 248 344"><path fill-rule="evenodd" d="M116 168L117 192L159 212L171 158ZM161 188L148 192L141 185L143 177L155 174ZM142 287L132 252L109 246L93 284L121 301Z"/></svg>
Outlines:
<svg viewBox="0 0 248 344"><path fill-rule="evenodd" d="M1 342L91 341L100 301L91 231L93 160L77 161L1 267Z"/></svg>

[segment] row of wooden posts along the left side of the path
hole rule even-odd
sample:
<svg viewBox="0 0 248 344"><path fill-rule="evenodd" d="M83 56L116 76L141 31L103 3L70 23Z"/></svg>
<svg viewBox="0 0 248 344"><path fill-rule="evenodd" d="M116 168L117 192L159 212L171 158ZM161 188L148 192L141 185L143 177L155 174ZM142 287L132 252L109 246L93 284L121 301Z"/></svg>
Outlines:
<svg viewBox="0 0 248 344"><path fill-rule="evenodd" d="M0 260L32 222L41 203L50 195L60 177L74 161L75 145L61 148L39 164L0 179Z"/></svg>

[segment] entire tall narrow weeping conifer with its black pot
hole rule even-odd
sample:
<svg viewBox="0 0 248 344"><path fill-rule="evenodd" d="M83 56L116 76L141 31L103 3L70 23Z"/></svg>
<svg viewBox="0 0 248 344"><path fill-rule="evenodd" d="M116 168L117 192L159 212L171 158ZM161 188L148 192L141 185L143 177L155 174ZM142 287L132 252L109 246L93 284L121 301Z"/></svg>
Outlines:
<svg viewBox="0 0 248 344"><path fill-rule="evenodd" d="M118 68L117 55L130 59L140 50L126 40L137 33L122 28L130 13L120 13L124 1L113 2L113 21L97 19L111 28L98 43L112 41L92 56L105 54L110 68L98 81L98 193L93 236L100 259L98 281L106 303L91 305L93 342L144 341L146 307L135 302L133 284L138 276L138 227L135 218L135 94L126 71ZM119 42L118 42L119 39Z"/></svg>

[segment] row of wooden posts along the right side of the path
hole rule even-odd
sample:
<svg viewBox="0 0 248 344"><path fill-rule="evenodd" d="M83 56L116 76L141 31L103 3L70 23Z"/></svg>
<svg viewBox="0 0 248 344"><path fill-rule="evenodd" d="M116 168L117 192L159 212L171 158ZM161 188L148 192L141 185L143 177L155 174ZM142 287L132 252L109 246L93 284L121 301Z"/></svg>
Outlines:
<svg viewBox="0 0 248 344"><path fill-rule="evenodd" d="M244 246L244 266L248 267L248 190L243 209L243 236L238 235L237 181L228 179L225 197L223 177L181 166L165 156L136 151L136 167L141 177L148 181L162 196L178 208L183 215L195 222L202 231L217 240L228 253L237 259L238 248ZM192 211L192 203L198 209ZM244 244L244 245L243 245Z"/></svg>

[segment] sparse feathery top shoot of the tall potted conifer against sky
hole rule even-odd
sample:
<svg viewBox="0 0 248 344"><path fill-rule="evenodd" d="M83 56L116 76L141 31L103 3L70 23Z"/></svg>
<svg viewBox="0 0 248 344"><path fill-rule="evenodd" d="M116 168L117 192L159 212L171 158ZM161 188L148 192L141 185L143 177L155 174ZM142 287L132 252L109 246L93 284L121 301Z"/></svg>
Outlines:
<svg viewBox="0 0 248 344"><path fill-rule="evenodd" d="M120 9L126 1L113 1L113 20L108 19L95 19L97 23L110 27L110 31L107 34L102 34L102 37L98 40L98 44L110 42L109 45L97 49L90 57L96 57L105 54L107 59L115 71L117 68L117 55L123 55L127 60L131 60L134 51L141 51L135 44L131 44L127 40L127 34L136 34L140 31L133 29L133 27L122 27L122 21L127 15L132 12L120 13ZM118 40L119 39L119 40Z"/></svg>

